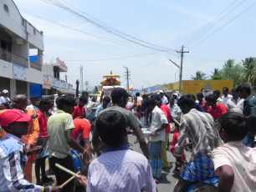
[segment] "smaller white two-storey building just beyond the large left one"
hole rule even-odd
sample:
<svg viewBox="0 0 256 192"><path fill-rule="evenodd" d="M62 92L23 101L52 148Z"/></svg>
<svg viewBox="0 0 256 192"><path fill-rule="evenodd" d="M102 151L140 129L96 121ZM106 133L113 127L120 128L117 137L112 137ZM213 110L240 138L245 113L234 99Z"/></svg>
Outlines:
<svg viewBox="0 0 256 192"><path fill-rule="evenodd" d="M43 95L61 94L74 94L73 85L67 82L67 79L60 79L59 73L68 72L68 67L59 58L56 58L54 63L44 63L44 85Z"/></svg>

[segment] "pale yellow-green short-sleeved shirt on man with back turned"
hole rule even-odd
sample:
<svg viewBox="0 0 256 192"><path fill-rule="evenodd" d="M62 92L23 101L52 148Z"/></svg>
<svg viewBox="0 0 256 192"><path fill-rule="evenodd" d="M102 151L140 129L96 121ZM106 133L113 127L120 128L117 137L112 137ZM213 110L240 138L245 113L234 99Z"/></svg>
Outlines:
<svg viewBox="0 0 256 192"><path fill-rule="evenodd" d="M71 156L71 150L67 142L65 131L74 129L73 118L71 114L59 110L56 114L49 117L47 122L47 131L49 138L49 157L54 156L64 159Z"/></svg>

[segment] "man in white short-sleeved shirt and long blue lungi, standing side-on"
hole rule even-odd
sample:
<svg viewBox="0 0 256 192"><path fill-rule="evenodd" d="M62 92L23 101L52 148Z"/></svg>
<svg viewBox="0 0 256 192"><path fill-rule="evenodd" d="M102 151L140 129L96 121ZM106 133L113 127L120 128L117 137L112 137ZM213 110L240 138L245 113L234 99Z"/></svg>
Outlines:
<svg viewBox="0 0 256 192"><path fill-rule="evenodd" d="M148 111L151 111L151 142L149 143L149 160L151 162L151 169L153 178L156 184L159 184L161 179L162 169L162 154L161 141L166 141L166 126L168 120L163 111L156 106L156 99L147 98L145 106Z"/></svg>

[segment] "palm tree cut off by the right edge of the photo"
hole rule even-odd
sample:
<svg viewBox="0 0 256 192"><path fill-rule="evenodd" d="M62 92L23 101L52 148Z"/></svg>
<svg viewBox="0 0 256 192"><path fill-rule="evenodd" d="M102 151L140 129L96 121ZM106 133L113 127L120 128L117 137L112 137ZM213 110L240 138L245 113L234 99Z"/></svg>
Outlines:
<svg viewBox="0 0 256 192"><path fill-rule="evenodd" d="M244 82L253 87L253 85L256 85L256 58L245 58L242 63Z"/></svg>

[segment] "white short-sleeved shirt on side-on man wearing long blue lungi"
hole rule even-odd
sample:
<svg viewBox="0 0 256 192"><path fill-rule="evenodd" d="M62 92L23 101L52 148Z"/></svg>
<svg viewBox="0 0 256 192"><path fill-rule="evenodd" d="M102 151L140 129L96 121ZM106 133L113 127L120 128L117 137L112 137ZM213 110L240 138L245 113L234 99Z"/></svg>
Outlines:
<svg viewBox="0 0 256 192"><path fill-rule="evenodd" d="M159 129L162 124L168 124L168 120L166 119L166 115L163 111L157 106L152 110L152 120L151 120L151 131L155 131ZM166 140L166 129L162 129L158 132L156 136L151 137L151 141L165 141Z"/></svg>

